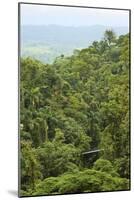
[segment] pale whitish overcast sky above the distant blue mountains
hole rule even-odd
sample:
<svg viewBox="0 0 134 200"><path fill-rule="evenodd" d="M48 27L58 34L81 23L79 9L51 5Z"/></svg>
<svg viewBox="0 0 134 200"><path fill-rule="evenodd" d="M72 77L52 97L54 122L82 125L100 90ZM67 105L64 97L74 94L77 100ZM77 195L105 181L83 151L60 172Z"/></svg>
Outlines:
<svg viewBox="0 0 134 200"><path fill-rule="evenodd" d="M21 4L21 25L129 26L127 10Z"/></svg>

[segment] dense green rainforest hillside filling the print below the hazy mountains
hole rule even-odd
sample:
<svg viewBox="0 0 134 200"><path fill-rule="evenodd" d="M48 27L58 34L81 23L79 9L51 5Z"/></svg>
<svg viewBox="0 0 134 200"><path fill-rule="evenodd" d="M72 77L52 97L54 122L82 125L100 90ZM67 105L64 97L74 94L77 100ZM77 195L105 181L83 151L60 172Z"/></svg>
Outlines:
<svg viewBox="0 0 134 200"><path fill-rule="evenodd" d="M53 64L21 59L21 196L129 189L129 65L111 30Z"/></svg>

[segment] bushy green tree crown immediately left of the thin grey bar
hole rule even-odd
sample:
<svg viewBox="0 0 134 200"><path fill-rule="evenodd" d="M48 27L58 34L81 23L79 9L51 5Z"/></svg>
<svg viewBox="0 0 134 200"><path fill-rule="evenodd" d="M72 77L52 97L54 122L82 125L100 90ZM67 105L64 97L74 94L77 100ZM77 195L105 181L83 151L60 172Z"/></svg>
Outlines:
<svg viewBox="0 0 134 200"><path fill-rule="evenodd" d="M80 153L72 144L62 144L57 140L47 142L37 149L37 154L43 178L58 176L79 167Z"/></svg>

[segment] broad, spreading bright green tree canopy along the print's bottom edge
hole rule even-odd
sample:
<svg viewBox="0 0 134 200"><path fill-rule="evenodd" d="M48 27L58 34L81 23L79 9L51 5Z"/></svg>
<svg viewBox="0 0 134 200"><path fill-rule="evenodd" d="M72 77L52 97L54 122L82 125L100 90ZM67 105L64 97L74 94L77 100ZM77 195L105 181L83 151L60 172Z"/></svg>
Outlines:
<svg viewBox="0 0 134 200"><path fill-rule="evenodd" d="M128 188L128 180L112 177L106 172L84 170L51 177L36 185L34 195L66 194L123 190Z"/></svg>

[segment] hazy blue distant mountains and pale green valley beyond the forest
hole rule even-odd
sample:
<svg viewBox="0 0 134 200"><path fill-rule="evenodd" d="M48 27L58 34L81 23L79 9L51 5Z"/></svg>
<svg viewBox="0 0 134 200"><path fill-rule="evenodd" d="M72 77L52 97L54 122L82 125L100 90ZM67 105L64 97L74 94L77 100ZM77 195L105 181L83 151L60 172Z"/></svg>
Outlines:
<svg viewBox="0 0 134 200"><path fill-rule="evenodd" d="M31 56L51 63L60 54L70 55L74 49L88 47L93 41L103 38L106 29L117 36L129 32L128 27L111 26L59 26L23 25L21 27L21 56Z"/></svg>

